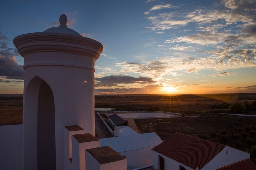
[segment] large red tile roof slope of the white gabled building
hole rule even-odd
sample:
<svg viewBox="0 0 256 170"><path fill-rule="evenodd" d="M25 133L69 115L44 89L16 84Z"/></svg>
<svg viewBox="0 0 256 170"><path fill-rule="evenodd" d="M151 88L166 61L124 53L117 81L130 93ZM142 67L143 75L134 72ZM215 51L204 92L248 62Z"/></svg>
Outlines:
<svg viewBox="0 0 256 170"><path fill-rule="evenodd" d="M190 168L201 169L225 147L226 145L175 133L152 150Z"/></svg>

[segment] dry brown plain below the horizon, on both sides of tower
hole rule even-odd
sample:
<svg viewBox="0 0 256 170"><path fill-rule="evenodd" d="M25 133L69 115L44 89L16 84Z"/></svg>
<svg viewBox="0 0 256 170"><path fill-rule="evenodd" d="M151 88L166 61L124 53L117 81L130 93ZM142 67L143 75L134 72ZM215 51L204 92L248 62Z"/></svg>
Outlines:
<svg viewBox="0 0 256 170"><path fill-rule="evenodd" d="M0 95L0 125L22 123L22 100L22 95ZM209 104L246 100L249 103L256 100L256 94L95 95L95 108L147 110L158 106L162 109L210 110Z"/></svg>

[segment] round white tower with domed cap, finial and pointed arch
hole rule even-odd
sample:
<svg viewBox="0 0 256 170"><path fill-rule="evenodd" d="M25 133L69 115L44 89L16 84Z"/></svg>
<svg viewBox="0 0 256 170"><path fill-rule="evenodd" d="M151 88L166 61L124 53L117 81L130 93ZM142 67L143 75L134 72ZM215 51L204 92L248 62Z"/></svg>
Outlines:
<svg viewBox="0 0 256 170"><path fill-rule="evenodd" d="M23 167L65 169L65 126L94 135L94 62L103 46L67 28L19 35L14 45L24 57Z"/></svg>

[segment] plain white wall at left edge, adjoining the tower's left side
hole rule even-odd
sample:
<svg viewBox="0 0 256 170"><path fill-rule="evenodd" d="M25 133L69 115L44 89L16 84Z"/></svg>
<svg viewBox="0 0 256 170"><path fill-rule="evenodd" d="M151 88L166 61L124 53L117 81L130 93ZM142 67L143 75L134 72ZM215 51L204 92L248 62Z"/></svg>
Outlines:
<svg viewBox="0 0 256 170"><path fill-rule="evenodd" d="M0 169L23 169L22 125L0 126Z"/></svg>

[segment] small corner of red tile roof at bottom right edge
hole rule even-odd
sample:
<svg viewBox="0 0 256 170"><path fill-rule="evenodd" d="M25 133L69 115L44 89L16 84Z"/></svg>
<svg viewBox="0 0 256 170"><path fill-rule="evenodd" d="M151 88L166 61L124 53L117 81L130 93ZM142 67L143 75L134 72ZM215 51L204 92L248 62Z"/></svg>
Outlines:
<svg viewBox="0 0 256 170"><path fill-rule="evenodd" d="M244 159L226 166L222 166L215 170L256 170L256 165L249 159Z"/></svg>

